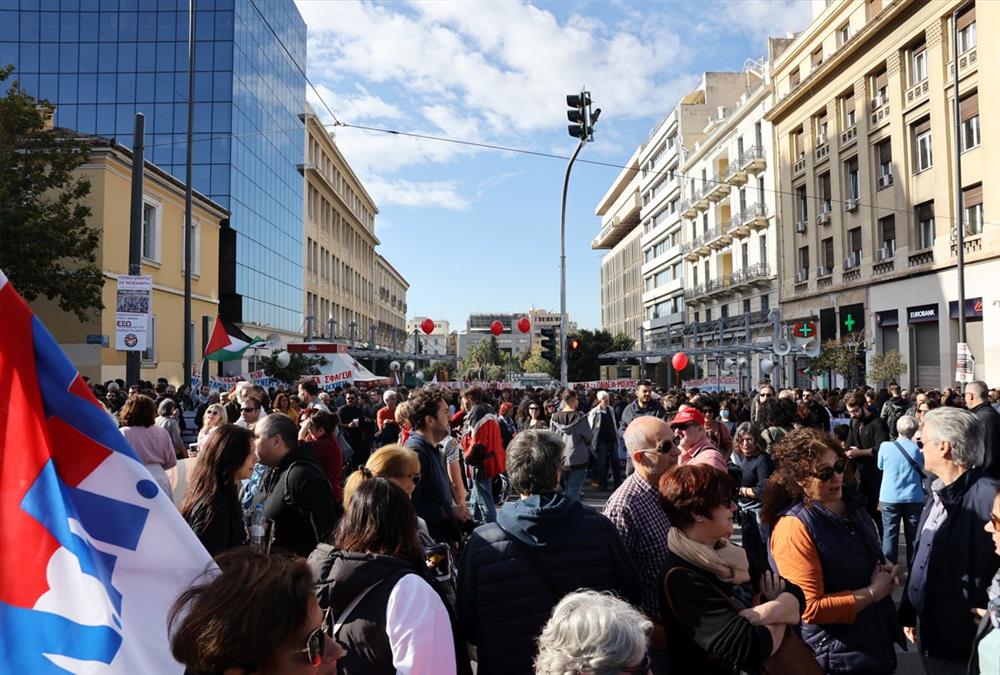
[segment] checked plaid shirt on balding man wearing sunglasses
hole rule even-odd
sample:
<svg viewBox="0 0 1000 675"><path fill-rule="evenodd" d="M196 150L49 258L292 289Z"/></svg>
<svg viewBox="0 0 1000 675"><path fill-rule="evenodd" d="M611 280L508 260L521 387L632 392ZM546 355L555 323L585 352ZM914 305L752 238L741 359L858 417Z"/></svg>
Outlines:
<svg viewBox="0 0 1000 675"><path fill-rule="evenodd" d="M660 494L638 473L615 490L604 506L604 515L618 529L642 581L640 609L663 623L660 583L667 558L670 523L660 507Z"/></svg>

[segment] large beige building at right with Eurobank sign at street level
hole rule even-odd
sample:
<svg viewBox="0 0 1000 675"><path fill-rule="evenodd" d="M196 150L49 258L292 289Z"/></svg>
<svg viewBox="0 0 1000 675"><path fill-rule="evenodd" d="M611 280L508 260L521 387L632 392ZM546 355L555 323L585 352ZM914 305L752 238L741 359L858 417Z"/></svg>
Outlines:
<svg viewBox="0 0 1000 675"><path fill-rule="evenodd" d="M820 10L774 59L767 116L784 318L818 319L823 339L863 332L869 355L899 350L904 386L953 383L960 211L967 341L976 377L996 380L988 274L1000 256L1000 195L985 171L1000 140L989 122L981 133L980 110L996 110L1000 92L980 82L997 74L1000 46L977 34L1000 26L1000 4L867 0Z"/></svg>

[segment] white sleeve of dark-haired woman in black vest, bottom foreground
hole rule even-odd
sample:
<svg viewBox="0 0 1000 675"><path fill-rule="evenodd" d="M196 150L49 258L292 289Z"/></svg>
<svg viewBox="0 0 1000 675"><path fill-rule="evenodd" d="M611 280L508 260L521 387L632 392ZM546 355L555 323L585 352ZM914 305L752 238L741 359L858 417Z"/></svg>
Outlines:
<svg viewBox="0 0 1000 675"><path fill-rule="evenodd" d="M385 607L392 665L400 675L454 675L455 642L441 598L416 574L396 582Z"/></svg>

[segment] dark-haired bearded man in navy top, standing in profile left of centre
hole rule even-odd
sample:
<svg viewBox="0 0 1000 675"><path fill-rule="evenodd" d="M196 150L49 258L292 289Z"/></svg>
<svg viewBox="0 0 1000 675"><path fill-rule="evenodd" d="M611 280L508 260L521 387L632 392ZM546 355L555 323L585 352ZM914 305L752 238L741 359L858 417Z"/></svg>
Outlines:
<svg viewBox="0 0 1000 675"><path fill-rule="evenodd" d="M441 391L432 387L417 389L406 402L413 432L404 446L420 458L420 483L413 491L413 506L427 522L435 541L457 542L465 510L455 504L444 460L437 449L449 432L448 404Z"/></svg>

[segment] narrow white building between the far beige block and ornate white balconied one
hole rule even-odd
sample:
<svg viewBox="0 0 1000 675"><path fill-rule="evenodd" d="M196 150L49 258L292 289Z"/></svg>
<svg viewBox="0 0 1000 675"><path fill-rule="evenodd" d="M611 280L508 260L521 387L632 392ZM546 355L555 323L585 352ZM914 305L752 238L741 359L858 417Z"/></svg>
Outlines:
<svg viewBox="0 0 1000 675"><path fill-rule="evenodd" d="M648 348L679 348L687 323L681 216L689 200L682 194L681 165L705 140L710 118L740 100L746 82L744 73L705 73L700 85L650 132L640 151L642 304Z"/></svg>

